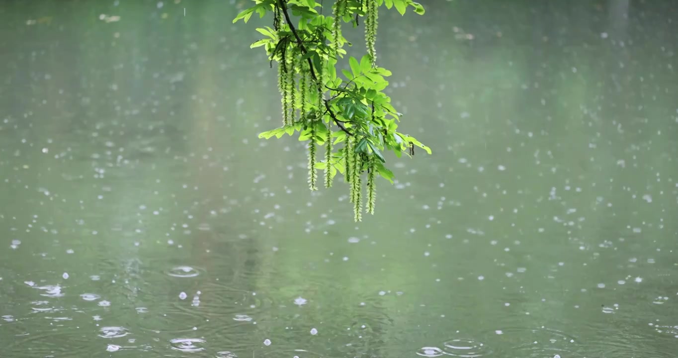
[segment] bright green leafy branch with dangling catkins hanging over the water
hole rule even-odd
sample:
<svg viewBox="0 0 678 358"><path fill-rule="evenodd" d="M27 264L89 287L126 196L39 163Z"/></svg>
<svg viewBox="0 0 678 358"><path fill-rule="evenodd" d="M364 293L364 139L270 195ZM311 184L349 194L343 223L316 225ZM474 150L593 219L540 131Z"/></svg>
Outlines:
<svg viewBox="0 0 678 358"><path fill-rule="evenodd" d="M332 16L323 16L315 0L252 0L254 6L233 20L247 22L253 14L273 14L273 28L256 31L264 35L250 47L263 46L268 58L279 64L283 126L259 134L259 138L280 138L299 133L308 141L308 183L317 190L317 170L325 171L325 187L332 186L337 173L349 184L355 221L362 220L362 176L367 170L365 211L374 214L376 174L393 184L393 173L384 164L382 152L414 155L414 146L431 154L431 148L414 137L397 132L401 114L384 94L391 71L377 66L376 37L378 8L395 7L401 15L407 7L417 14L424 8L412 0L335 0ZM325 14L328 12L325 11ZM337 73L348 43L342 22L359 26L363 18L367 54L360 60L348 58L351 71ZM350 45L350 43L349 43ZM342 76L343 75L343 76ZM342 144L342 146L338 146ZM316 161L317 145L325 146L323 161Z"/></svg>

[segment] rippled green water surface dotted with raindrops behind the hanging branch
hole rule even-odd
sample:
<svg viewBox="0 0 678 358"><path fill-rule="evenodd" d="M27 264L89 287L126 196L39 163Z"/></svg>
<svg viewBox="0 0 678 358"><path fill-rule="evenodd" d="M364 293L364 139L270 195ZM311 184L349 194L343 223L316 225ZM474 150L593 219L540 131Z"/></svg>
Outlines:
<svg viewBox="0 0 678 358"><path fill-rule="evenodd" d="M671 1L384 11L434 155L389 159L359 224L257 139L247 3L0 5L3 357L673 356Z"/></svg>

